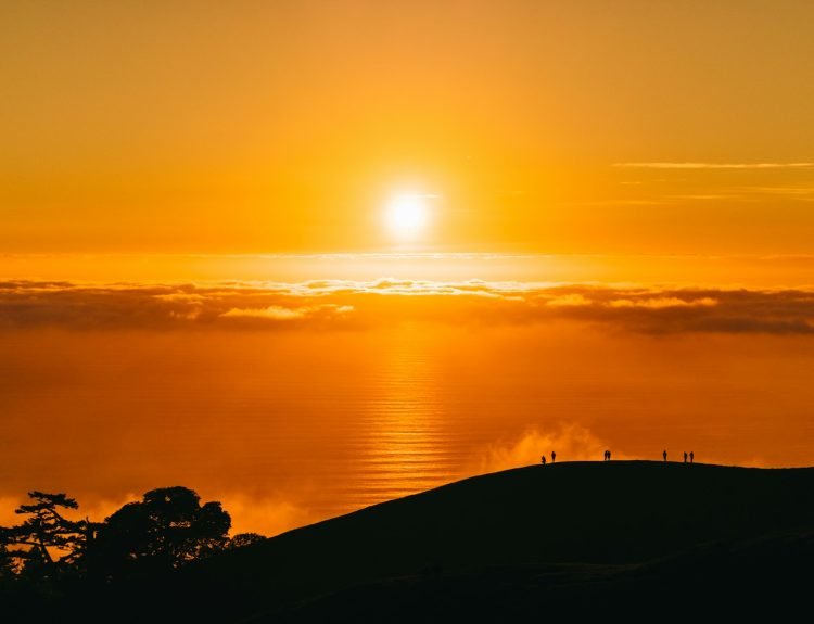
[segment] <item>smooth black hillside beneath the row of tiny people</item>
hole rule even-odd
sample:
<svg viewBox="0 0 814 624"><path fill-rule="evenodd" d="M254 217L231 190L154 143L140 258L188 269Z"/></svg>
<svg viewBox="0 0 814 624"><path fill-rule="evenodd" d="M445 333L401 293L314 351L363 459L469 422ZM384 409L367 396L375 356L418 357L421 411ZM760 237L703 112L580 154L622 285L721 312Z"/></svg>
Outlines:
<svg viewBox="0 0 814 624"><path fill-rule="evenodd" d="M796 580L812 580L812 493L809 468L533 466L291 531L216 557L186 583L258 622L495 621L507 604L512 617L644 608L679 590L684 602L723 604L727 587L755 583L770 598L791 591L788 603L805 595Z"/></svg>

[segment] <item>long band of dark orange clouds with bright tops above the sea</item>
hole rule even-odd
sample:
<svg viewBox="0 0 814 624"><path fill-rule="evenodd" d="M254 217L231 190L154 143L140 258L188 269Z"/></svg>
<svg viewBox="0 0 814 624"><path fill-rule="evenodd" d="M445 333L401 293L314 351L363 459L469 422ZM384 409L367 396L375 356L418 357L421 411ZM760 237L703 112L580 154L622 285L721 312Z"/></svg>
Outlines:
<svg viewBox="0 0 814 624"><path fill-rule="evenodd" d="M0 329L367 329L573 320L649 334L814 333L814 291L380 279L301 283L0 282Z"/></svg>

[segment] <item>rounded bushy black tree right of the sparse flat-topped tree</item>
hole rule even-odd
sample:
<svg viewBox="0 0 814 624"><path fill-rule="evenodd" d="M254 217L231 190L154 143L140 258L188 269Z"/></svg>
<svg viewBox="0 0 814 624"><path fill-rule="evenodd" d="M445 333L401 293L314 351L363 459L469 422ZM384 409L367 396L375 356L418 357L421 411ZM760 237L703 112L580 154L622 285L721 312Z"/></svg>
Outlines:
<svg viewBox="0 0 814 624"><path fill-rule="evenodd" d="M231 518L220 502L201 505L187 487L164 487L129 502L100 526L91 564L107 578L165 573L228 544Z"/></svg>

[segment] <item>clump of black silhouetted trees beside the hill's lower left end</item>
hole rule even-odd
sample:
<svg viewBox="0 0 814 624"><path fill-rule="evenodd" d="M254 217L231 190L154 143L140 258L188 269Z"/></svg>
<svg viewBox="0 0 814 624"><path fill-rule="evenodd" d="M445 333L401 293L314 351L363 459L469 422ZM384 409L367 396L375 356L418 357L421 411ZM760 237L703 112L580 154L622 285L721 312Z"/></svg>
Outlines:
<svg viewBox="0 0 814 624"><path fill-rule="evenodd" d="M231 518L220 502L202 505L181 486L152 489L102 523L66 518L65 510L79 506L65 494L28 496L16 509L23 521L0 526L0 602L12 586L51 593L86 582L154 583L217 551L265 539L254 533L230 539Z"/></svg>

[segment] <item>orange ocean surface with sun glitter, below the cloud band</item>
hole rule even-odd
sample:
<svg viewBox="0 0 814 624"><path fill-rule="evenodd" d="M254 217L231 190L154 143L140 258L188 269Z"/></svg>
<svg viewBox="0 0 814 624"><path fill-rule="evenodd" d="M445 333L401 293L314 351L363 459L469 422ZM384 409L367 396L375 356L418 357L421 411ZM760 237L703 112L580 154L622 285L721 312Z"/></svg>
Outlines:
<svg viewBox="0 0 814 624"><path fill-rule="evenodd" d="M0 523L29 489L103 517L186 485L277 533L551 450L814 462L807 336L38 327L0 354Z"/></svg>

